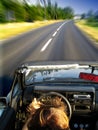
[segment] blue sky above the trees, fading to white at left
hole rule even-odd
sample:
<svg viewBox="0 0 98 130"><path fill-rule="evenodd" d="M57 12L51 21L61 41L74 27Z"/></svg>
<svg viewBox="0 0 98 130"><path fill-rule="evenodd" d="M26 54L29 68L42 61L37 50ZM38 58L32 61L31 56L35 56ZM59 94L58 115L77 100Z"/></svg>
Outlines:
<svg viewBox="0 0 98 130"><path fill-rule="evenodd" d="M38 0L29 1L36 3ZM89 10L94 12L98 10L98 0L51 0L51 2L57 2L58 6L63 8L66 6L72 7L75 14L87 13Z"/></svg>

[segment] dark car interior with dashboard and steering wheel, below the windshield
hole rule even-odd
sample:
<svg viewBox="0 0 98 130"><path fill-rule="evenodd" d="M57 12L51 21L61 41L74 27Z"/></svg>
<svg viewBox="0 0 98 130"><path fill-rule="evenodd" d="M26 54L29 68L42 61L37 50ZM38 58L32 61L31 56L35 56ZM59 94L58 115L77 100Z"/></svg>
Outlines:
<svg viewBox="0 0 98 130"><path fill-rule="evenodd" d="M7 97L0 97L1 130L22 130L27 107L34 98L60 97L67 105L71 130L98 130L98 84L84 82L44 82L23 86L23 71L18 70ZM17 84L18 81L18 84ZM11 101L11 102L9 102ZM3 113L3 114L1 114Z"/></svg>

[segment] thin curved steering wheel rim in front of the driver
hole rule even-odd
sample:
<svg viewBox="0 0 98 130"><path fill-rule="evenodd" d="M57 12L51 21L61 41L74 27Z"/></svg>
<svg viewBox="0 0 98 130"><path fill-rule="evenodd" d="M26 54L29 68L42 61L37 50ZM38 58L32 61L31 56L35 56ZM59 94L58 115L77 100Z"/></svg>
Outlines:
<svg viewBox="0 0 98 130"><path fill-rule="evenodd" d="M69 119L71 119L72 109L71 109L71 105L70 105L70 103L69 103L69 101L67 100L66 97L64 97L62 94L60 94L58 92L49 92L49 93L42 94L42 96L39 98L39 100L41 101L41 99L43 99L44 97L47 97L47 96L50 96L50 97L58 96L58 97L62 98L64 103L67 105L68 117L69 117Z"/></svg>

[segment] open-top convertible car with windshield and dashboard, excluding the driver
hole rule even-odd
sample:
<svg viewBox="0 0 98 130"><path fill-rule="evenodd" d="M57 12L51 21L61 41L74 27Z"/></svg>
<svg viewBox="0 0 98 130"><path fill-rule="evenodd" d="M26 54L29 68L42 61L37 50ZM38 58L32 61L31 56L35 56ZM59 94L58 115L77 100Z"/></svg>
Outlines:
<svg viewBox="0 0 98 130"><path fill-rule="evenodd" d="M71 130L98 130L98 63L29 62L15 70L11 90L0 97L0 130L21 130L34 98L58 96Z"/></svg>

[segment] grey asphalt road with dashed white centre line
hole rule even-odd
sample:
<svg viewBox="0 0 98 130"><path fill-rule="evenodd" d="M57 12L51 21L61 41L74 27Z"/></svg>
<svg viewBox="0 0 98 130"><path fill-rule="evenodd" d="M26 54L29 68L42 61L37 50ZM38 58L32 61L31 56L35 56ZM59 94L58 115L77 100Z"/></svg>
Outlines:
<svg viewBox="0 0 98 130"><path fill-rule="evenodd" d="M72 21L38 28L0 44L0 76L26 61L98 61L98 50Z"/></svg>

